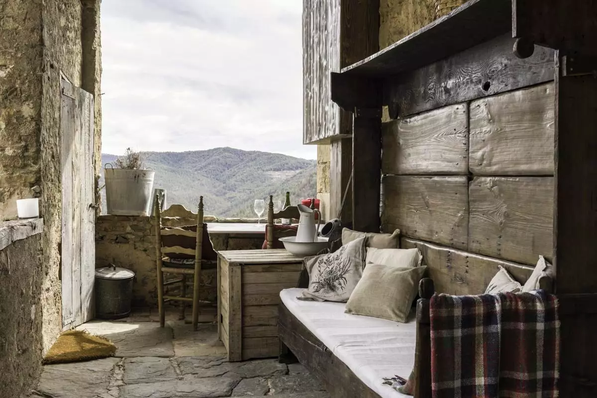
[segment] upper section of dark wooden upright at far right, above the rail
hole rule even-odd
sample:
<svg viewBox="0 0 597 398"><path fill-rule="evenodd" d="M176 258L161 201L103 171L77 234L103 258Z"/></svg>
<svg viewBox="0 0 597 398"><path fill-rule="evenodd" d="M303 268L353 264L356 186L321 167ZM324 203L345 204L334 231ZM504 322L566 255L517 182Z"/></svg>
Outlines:
<svg viewBox="0 0 597 398"><path fill-rule="evenodd" d="M595 293L597 80L591 75L559 77L556 95L557 293ZM597 380L597 372L593 377Z"/></svg>

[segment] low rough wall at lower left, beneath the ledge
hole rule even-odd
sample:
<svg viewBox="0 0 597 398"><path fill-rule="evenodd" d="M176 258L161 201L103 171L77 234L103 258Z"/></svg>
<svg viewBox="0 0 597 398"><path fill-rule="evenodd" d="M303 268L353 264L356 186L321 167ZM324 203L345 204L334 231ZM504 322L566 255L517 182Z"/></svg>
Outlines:
<svg viewBox="0 0 597 398"><path fill-rule="evenodd" d="M42 358L41 235L0 251L0 396L20 397L35 385Z"/></svg>

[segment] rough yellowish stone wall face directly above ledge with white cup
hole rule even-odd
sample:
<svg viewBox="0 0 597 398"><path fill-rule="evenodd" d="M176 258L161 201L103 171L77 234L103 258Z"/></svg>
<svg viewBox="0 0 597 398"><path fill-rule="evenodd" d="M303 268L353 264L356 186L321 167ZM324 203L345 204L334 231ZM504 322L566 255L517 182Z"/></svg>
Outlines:
<svg viewBox="0 0 597 398"><path fill-rule="evenodd" d="M0 221L40 184L41 21L41 0L0 0Z"/></svg>

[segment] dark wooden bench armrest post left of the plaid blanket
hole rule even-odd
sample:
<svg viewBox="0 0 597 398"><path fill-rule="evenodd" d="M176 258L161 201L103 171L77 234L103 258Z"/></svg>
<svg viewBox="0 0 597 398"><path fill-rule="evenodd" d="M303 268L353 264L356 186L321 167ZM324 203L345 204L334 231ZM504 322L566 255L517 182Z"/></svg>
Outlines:
<svg viewBox="0 0 597 398"><path fill-rule="evenodd" d="M431 325L429 300L435 293L433 280L423 278L418 284L417 342L415 347L414 371L417 398L431 398Z"/></svg>

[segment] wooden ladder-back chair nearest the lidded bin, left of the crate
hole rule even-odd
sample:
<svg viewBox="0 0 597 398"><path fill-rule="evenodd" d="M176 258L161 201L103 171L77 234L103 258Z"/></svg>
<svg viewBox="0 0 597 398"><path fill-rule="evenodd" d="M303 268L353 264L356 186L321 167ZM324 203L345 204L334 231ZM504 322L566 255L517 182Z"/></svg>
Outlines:
<svg viewBox="0 0 597 398"><path fill-rule="evenodd" d="M203 222L203 197L199 198L198 212L192 213L180 204L174 204L169 209L161 212L159 196L153 202L153 215L155 217L155 253L156 269L158 273L158 310L159 324L164 327L165 308L168 301L180 301L181 319L184 319L184 307L192 303L193 330L197 329L199 320L199 307L201 304L212 304L199 300L199 287L201 285L202 265L216 266L217 253L211 244L207 232L207 225ZM162 217L195 218L196 224L181 227L168 227L162 225ZM164 273L181 275L180 279L164 281ZM193 276L193 296L187 297L187 276ZM179 296L165 295L164 287L180 284Z"/></svg>

